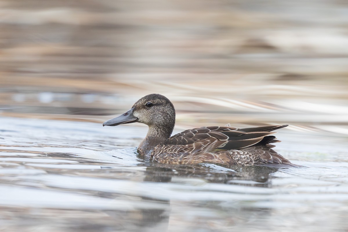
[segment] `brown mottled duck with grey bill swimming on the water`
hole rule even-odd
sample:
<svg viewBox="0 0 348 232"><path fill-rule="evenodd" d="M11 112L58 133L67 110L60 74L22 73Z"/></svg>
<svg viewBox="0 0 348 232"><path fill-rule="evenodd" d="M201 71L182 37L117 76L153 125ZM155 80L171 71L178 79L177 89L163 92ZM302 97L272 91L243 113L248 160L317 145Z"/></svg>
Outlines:
<svg viewBox="0 0 348 232"><path fill-rule="evenodd" d="M298 167L272 149L275 145L271 143L280 142L273 131L288 125L242 129L229 124L204 126L171 136L175 125L173 103L163 95L149 94L124 114L105 121L103 126L133 122L149 127L137 152L150 161L174 165Z"/></svg>

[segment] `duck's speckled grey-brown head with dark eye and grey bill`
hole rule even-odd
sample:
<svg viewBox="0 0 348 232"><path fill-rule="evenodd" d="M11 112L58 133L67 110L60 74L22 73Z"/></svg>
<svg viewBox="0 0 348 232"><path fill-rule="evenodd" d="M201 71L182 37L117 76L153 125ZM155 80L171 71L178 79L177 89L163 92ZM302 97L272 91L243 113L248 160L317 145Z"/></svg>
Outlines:
<svg viewBox="0 0 348 232"><path fill-rule="evenodd" d="M169 127L173 130L174 106L163 95L149 94L140 98L126 113L104 122L103 126L117 126L132 122L144 123L149 127Z"/></svg>

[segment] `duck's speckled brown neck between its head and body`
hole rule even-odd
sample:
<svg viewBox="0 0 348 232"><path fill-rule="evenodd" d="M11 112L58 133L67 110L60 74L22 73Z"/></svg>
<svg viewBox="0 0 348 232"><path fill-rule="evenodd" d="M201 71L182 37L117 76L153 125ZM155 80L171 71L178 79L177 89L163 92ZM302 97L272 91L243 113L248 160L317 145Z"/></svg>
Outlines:
<svg viewBox="0 0 348 232"><path fill-rule="evenodd" d="M171 137L174 125L172 128L165 126L149 125L148 134L138 146L138 153L145 158L149 158L155 146L163 143L167 138Z"/></svg>

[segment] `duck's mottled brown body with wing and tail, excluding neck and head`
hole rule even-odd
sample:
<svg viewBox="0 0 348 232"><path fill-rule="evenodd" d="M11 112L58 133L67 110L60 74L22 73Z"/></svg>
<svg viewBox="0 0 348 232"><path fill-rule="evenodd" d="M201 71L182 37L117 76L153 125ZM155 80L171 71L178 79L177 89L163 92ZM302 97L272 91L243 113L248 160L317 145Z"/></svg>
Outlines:
<svg viewBox="0 0 348 232"><path fill-rule="evenodd" d="M237 129L211 126L185 130L157 145L151 158L160 163L293 166L271 148L280 126Z"/></svg>

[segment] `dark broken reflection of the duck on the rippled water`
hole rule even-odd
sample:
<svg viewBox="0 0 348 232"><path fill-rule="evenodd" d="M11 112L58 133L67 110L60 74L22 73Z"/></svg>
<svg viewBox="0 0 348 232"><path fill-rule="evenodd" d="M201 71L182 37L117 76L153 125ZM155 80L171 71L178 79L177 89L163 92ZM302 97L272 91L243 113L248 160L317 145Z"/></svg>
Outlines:
<svg viewBox="0 0 348 232"><path fill-rule="evenodd" d="M145 182L173 182L174 178L198 178L209 183L225 183L258 187L270 187L270 174L276 172L276 168L266 167L221 167L207 165L165 165L161 163L145 163ZM172 208L170 200L151 199L142 197L142 200L161 203L162 209L141 209L135 224L143 231L167 231ZM206 202L208 203L208 202ZM260 210L260 209L258 209ZM269 209L262 209L263 213ZM246 211L250 211L246 209Z"/></svg>

